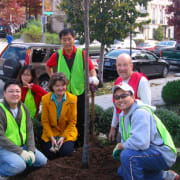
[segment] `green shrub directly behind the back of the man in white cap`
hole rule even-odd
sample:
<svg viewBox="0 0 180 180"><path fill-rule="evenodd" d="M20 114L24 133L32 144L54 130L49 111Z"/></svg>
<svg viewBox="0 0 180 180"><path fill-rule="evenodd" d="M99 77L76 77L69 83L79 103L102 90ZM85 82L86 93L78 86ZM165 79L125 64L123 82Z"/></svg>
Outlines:
<svg viewBox="0 0 180 180"><path fill-rule="evenodd" d="M155 114L161 119L163 124L168 129L171 134L174 143L177 146L180 145L180 117L172 111L167 109L159 108L155 112Z"/></svg>

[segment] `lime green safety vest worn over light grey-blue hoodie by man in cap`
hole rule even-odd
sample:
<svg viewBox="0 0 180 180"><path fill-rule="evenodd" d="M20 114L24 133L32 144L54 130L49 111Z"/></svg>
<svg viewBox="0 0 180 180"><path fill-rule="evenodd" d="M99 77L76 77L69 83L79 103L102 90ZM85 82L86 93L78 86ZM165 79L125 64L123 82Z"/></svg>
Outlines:
<svg viewBox="0 0 180 180"><path fill-rule="evenodd" d="M140 108L146 109L151 112L153 118L156 121L157 129L159 131L160 136L162 137L162 139L164 141L164 144L169 146L171 148L171 150L177 154L177 150L176 150L176 147L172 140L172 137L171 137L170 133L168 132L168 130L166 129L166 127L164 126L164 124L161 122L161 120L154 114L154 112L152 111L151 108L149 108L147 106L141 106L141 107L138 107L137 109L140 109ZM126 141L130 137L131 123L129 123L128 132L126 133L125 126L124 126L124 118L121 117L121 126L122 126L122 131L123 131L123 139Z"/></svg>

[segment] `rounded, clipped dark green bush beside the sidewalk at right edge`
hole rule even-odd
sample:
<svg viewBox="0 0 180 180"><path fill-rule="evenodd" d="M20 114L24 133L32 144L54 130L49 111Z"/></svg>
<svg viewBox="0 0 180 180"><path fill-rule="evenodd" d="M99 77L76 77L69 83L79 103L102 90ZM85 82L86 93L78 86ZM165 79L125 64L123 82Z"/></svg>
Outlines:
<svg viewBox="0 0 180 180"><path fill-rule="evenodd" d="M162 89L162 98L167 104L180 103L180 80L168 82Z"/></svg>

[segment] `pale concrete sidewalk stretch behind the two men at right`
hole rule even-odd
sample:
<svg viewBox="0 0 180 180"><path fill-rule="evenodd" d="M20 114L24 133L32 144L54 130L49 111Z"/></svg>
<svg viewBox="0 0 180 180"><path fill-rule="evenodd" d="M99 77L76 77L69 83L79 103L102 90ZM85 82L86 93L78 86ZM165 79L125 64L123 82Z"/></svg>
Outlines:
<svg viewBox="0 0 180 180"><path fill-rule="evenodd" d="M167 78L160 78L160 79L152 79L150 80L151 84L151 96L152 96L152 105L158 106L165 104L162 97L161 97L161 91L164 85L168 81L173 81L176 79L180 79L180 77L175 76L169 76ZM107 109L109 107L113 106L112 103L112 94L105 94L102 96L96 96L95 97L95 104L101 106L103 109Z"/></svg>

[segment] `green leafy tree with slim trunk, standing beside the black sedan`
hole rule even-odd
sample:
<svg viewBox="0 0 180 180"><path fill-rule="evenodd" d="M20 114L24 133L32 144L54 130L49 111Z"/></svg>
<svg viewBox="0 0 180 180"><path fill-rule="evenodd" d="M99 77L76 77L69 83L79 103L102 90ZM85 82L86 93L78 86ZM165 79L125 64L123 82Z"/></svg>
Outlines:
<svg viewBox="0 0 180 180"><path fill-rule="evenodd" d="M147 6L148 0L91 0L89 11L90 40L101 42L101 53L98 76L103 83L103 64L105 45L113 43L114 39L124 39L137 27L149 21L136 23L138 17L148 14L138 11L137 5ZM62 0L59 9L67 15L67 22L84 38L84 13L81 0Z"/></svg>

